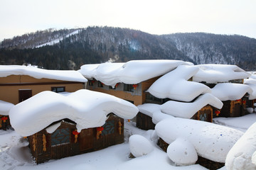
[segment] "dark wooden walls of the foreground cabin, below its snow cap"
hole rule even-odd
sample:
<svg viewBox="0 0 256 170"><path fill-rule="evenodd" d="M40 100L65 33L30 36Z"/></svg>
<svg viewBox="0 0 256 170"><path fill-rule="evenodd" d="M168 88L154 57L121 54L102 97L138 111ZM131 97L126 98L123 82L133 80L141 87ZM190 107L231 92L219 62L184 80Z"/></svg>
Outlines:
<svg viewBox="0 0 256 170"><path fill-rule="evenodd" d="M97 151L124 142L124 120L110 114L105 125L78 132L71 120L61 120L60 126L49 133L48 128L28 136L31 154L37 164L50 159L60 159ZM56 123L52 123L56 124Z"/></svg>

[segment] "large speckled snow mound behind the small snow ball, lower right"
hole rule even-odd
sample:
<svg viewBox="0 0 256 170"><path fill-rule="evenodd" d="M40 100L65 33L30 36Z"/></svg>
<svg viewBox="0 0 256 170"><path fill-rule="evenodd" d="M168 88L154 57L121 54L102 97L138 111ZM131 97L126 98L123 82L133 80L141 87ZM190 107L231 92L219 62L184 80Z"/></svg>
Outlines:
<svg viewBox="0 0 256 170"><path fill-rule="evenodd" d="M178 137L191 142L199 156L214 162L225 162L225 158L243 132L200 120L169 118L156 124L156 133L165 142Z"/></svg>

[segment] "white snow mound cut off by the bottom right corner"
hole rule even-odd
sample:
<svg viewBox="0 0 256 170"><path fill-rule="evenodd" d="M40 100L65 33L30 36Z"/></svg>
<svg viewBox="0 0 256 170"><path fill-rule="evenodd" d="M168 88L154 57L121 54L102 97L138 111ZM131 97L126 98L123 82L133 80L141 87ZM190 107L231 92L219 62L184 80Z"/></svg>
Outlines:
<svg viewBox="0 0 256 170"><path fill-rule="evenodd" d="M225 166L228 170L252 170L256 169L252 163L252 155L256 151L256 123L252 124L244 135L235 143L228 152Z"/></svg>

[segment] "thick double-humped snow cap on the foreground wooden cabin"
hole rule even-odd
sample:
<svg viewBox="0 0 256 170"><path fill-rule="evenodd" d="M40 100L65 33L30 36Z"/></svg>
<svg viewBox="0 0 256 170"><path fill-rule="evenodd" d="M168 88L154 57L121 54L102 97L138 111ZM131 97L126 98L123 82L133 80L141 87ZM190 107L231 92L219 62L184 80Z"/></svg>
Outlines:
<svg viewBox="0 0 256 170"><path fill-rule="evenodd" d="M16 132L29 136L65 118L77 123L79 132L102 126L109 113L131 119L138 108L120 98L85 89L68 96L43 91L11 108L9 116Z"/></svg>

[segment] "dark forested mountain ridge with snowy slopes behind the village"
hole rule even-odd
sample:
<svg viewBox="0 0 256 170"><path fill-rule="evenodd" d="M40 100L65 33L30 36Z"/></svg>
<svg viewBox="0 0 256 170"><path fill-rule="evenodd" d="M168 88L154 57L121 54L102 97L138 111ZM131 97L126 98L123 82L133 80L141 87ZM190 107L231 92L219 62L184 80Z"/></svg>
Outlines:
<svg viewBox="0 0 256 170"><path fill-rule="evenodd" d="M145 59L237 64L255 70L256 39L207 33L151 35L127 28L88 27L37 31L0 44L0 64L29 63L46 69Z"/></svg>

